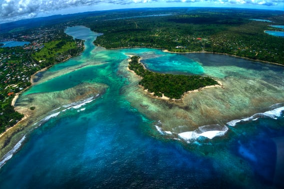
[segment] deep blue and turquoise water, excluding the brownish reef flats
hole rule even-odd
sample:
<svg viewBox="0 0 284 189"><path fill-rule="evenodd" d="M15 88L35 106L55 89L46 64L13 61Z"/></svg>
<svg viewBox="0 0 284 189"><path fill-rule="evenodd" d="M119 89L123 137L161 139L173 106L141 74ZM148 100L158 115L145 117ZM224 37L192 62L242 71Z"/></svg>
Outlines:
<svg viewBox="0 0 284 189"><path fill-rule="evenodd" d="M283 186L279 179L284 162L281 111L271 113L276 115L274 119L261 115L239 121L228 126L224 137L214 140L199 137L195 143L187 144L168 139L155 130L157 120L146 118L121 95L129 81L118 67L126 55L137 54L154 71L216 78L230 76L233 68L239 72L235 77L251 73L252 78L258 78L253 75L257 70L262 79L272 81L276 76L271 73L282 75L282 68L268 69L265 64L246 61L241 64L241 59L236 59L234 65L228 63L229 57L212 54L180 55L145 48L107 51L93 46L91 41L97 34L88 28L72 27L66 33L86 40L83 54L41 73L38 84L22 96L60 91L83 82L104 83L108 88L79 108L60 109L56 116L27 134L19 152L0 168L1 188ZM214 70L216 67L219 71ZM282 104L271 110L279 107Z"/></svg>

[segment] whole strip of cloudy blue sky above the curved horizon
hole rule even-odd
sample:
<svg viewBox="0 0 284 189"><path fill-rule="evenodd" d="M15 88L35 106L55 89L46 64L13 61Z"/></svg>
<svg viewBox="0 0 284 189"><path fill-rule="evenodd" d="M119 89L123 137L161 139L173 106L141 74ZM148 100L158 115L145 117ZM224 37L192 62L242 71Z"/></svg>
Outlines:
<svg viewBox="0 0 284 189"><path fill-rule="evenodd" d="M284 0L0 0L0 23L54 14L173 6L236 7L284 11Z"/></svg>

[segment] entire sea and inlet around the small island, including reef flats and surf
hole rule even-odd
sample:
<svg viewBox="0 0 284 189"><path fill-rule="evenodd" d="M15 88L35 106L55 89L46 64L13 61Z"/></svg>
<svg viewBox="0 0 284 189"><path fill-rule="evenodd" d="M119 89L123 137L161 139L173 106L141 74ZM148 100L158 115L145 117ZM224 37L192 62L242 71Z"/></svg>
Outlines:
<svg viewBox="0 0 284 189"><path fill-rule="evenodd" d="M15 128L24 140L1 165L1 186L281 185L284 67L223 54L106 50L93 45L99 34L89 28L65 32L84 39L85 50L36 74L17 99L16 110L29 117ZM209 76L220 85L178 100L154 97L127 70L131 55L151 71Z"/></svg>

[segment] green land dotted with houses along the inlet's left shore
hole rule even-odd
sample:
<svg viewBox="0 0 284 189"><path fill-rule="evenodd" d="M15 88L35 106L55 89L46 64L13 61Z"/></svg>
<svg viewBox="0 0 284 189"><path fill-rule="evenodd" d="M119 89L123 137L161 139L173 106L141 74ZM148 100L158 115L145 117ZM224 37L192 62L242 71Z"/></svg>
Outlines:
<svg viewBox="0 0 284 189"><path fill-rule="evenodd" d="M34 73L83 50L83 41L72 39L63 29L29 31L18 34L18 38L30 41L29 45L0 48L0 133L22 119L23 115L14 111L11 102L17 93L31 85Z"/></svg>

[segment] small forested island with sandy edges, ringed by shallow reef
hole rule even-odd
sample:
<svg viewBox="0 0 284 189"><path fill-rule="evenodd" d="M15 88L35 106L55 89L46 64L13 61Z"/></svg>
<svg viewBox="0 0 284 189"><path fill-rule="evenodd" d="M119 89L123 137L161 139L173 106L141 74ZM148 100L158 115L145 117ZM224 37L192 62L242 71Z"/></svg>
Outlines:
<svg viewBox="0 0 284 189"><path fill-rule="evenodd" d="M139 56L132 56L128 68L142 77L139 85L148 92L154 93L154 96L162 97L164 95L171 99L180 99L187 91L218 85L218 82L210 77L161 74L149 71L139 62L139 58Z"/></svg>

